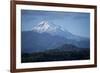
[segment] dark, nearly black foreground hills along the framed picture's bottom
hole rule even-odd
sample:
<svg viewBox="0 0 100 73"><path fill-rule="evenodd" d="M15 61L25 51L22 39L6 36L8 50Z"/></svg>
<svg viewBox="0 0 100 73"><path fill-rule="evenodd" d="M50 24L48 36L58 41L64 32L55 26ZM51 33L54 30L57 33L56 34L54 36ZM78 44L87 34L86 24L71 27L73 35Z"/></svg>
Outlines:
<svg viewBox="0 0 100 73"><path fill-rule="evenodd" d="M73 45L63 45L56 49L44 52L22 53L22 63L27 62L48 62L48 61L69 61L90 59L89 48L77 48Z"/></svg>

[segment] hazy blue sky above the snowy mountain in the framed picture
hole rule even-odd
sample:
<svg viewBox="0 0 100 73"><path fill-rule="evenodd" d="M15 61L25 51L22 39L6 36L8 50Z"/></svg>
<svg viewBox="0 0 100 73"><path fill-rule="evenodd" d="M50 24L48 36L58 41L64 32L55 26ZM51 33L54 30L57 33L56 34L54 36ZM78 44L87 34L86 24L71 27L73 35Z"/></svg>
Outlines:
<svg viewBox="0 0 100 73"><path fill-rule="evenodd" d="M90 13L21 10L22 31L32 30L34 25L44 20L59 25L75 35L90 36Z"/></svg>

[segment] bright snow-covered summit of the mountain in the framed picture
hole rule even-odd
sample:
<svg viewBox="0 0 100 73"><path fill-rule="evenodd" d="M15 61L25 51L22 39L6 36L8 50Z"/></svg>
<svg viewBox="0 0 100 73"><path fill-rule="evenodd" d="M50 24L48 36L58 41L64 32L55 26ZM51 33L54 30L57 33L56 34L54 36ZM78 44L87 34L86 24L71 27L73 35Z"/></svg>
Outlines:
<svg viewBox="0 0 100 73"><path fill-rule="evenodd" d="M58 29L61 29L61 27L56 26L53 23L49 23L48 21L42 21L38 25L33 27L33 31L37 31L39 33L56 32Z"/></svg>

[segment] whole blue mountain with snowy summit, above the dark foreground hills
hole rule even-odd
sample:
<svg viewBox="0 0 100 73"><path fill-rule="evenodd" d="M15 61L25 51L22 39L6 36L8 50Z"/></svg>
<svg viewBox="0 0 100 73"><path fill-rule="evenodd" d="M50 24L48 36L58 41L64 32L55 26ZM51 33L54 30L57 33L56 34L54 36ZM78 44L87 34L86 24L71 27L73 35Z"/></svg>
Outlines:
<svg viewBox="0 0 100 73"><path fill-rule="evenodd" d="M22 31L22 52L45 51L64 44L74 48L89 48L90 40L70 33L54 23L41 21L31 31ZM70 49L70 48L66 48Z"/></svg>

